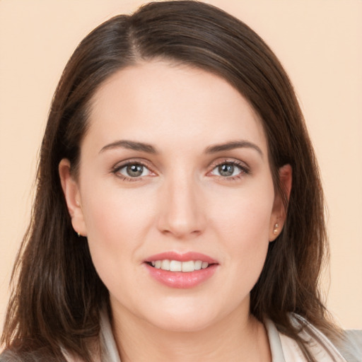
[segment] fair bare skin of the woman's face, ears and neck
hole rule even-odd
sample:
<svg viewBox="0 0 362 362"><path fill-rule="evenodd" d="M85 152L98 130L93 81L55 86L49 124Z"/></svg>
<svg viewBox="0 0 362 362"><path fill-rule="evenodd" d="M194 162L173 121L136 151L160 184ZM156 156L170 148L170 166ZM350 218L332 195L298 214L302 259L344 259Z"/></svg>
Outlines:
<svg viewBox="0 0 362 362"><path fill-rule="evenodd" d="M264 326L249 313L250 290L284 208L252 107L223 78L158 60L112 75L89 122L78 178L65 159L59 174L74 230L87 236L110 291L122 362L271 361ZM241 140L248 144L206 152ZM144 165L142 175L130 177L125 160ZM233 174L221 175L220 165ZM280 177L290 190L289 165ZM170 288L144 264L168 251L201 252L218 267L194 288Z"/></svg>

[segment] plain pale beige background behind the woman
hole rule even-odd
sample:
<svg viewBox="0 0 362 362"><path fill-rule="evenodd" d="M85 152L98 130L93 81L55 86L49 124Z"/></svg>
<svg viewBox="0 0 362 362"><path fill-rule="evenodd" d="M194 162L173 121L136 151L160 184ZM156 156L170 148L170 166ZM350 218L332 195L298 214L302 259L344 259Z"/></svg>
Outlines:
<svg viewBox="0 0 362 362"><path fill-rule="evenodd" d="M0 0L0 325L29 219L37 151L62 69L96 25L143 2ZM323 279L327 306L343 327L362 328L362 1L209 2L254 28L291 76L327 196L332 254Z"/></svg>

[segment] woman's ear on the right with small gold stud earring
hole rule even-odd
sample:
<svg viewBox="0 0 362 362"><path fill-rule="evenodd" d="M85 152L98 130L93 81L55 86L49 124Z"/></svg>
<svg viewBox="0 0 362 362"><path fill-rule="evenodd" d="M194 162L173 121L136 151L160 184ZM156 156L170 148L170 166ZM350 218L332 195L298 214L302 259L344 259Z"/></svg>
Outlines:
<svg viewBox="0 0 362 362"><path fill-rule="evenodd" d="M281 189L284 190L286 198L289 200L292 185L292 168L291 165L284 165L279 168L279 181ZM284 206L283 198L278 193L274 198L273 210L271 211L269 225L269 241L274 241L281 230L283 230L284 222L286 221L286 207Z"/></svg>

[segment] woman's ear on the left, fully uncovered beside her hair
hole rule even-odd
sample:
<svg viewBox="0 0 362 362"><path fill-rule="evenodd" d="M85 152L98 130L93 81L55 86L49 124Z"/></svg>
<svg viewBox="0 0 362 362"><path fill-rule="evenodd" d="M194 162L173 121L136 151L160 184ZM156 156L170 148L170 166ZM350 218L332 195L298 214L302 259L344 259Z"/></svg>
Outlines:
<svg viewBox="0 0 362 362"><path fill-rule="evenodd" d="M69 215L71 216L71 224L76 233L86 236L86 223L83 217L81 194L78 182L71 175L71 163L66 158L63 158L59 163L58 169L66 206L68 206Z"/></svg>

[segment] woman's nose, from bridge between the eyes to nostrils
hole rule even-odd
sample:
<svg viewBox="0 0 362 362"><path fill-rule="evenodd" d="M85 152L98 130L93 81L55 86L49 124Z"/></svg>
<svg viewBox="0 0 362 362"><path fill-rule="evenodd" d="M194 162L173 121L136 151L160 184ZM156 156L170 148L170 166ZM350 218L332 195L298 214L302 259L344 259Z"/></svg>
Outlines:
<svg viewBox="0 0 362 362"><path fill-rule="evenodd" d="M165 182L158 218L161 233L177 239L189 239L204 231L206 208L199 187L192 177Z"/></svg>

